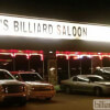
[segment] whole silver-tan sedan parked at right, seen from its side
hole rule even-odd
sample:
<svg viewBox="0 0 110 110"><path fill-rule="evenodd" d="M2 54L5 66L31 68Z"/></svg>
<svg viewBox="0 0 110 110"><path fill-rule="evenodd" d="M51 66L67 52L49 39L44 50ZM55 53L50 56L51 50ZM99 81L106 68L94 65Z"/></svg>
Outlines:
<svg viewBox="0 0 110 110"><path fill-rule="evenodd" d="M98 75L77 75L70 79L63 80L61 89L67 94L80 91L91 92L96 96L110 95L110 81L105 81Z"/></svg>

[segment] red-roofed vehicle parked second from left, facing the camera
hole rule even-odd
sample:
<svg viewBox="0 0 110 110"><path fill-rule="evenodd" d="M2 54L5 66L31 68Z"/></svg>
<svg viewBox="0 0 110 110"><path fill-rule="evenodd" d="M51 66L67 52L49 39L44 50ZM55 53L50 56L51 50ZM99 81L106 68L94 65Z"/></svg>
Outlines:
<svg viewBox="0 0 110 110"><path fill-rule="evenodd" d="M54 86L43 81L38 73L33 72L11 72L20 81L24 81L29 88L29 99L38 98L51 100L55 96Z"/></svg>

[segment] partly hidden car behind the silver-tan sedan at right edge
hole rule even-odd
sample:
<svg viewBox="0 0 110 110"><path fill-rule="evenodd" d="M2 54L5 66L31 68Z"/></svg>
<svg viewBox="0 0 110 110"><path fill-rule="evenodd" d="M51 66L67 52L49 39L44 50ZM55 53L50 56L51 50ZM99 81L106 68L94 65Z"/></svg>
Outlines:
<svg viewBox="0 0 110 110"><path fill-rule="evenodd" d="M97 68L92 74L102 76L106 80L110 80L110 67Z"/></svg>

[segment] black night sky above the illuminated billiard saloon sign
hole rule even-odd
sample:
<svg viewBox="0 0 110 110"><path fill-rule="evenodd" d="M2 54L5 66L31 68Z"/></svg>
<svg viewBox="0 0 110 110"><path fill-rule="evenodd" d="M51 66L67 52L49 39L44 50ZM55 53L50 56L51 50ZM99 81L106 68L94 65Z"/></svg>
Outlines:
<svg viewBox="0 0 110 110"><path fill-rule="evenodd" d="M0 0L0 12L110 24L110 0Z"/></svg>

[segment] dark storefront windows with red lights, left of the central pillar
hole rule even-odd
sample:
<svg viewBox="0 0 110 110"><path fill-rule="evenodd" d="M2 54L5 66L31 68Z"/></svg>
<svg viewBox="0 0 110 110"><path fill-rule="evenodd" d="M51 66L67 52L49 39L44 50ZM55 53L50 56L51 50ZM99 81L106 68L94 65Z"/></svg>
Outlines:
<svg viewBox="0 0 110 110"><path fill-rule="evenodd" d="M0 68L8 69L9 72L13 70L35 70L43 75L43 59L42 55L30 55L25 53L20 53L18 55L14 55L13 53L8 53L10 51L7 51L7 53L0 54Z"/></svg>

